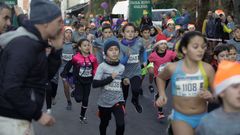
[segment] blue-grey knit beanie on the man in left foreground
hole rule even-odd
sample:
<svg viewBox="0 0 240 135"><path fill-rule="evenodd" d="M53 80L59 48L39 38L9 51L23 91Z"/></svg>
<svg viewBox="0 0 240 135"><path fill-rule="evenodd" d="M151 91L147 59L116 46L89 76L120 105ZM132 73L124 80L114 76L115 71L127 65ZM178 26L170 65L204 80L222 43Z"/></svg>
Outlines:
<svg viewBox="0 0 240 135"><path fill-rule="evenodd" d="M61 16L59 7L49 0L31 0L30 21L33 24L49 23Z"/></svg>

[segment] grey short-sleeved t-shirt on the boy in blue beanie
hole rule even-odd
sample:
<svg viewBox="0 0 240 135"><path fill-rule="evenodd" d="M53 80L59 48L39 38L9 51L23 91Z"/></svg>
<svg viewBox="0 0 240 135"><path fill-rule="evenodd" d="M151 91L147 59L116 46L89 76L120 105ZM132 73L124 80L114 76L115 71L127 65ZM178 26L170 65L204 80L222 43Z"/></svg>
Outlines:
<svg viewBox="0 0 240 135"><path fill-rule="evenodd" d="M103 80L112 73L118 73L117 77L110 83L101 87L101 94L98 98L98 105L101 107L112 107L116 103L124 101L122 92L122 74L124 72L124 66L119 64L118 66L111 66L105 62L101 63L94 76L94 80Z"/></svg>

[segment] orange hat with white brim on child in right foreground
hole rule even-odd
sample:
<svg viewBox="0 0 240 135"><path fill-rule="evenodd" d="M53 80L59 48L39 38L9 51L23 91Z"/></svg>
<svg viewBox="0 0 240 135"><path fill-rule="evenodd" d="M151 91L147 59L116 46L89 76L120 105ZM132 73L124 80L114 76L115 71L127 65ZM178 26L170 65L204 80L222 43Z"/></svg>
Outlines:
<svg viewBox="0 0 240 135"><path fill-rule="evenodd" d="M215 95L219 95L232 84L240 83L240 63L222 61L218 65L217 73L214 78Z"/></svg>

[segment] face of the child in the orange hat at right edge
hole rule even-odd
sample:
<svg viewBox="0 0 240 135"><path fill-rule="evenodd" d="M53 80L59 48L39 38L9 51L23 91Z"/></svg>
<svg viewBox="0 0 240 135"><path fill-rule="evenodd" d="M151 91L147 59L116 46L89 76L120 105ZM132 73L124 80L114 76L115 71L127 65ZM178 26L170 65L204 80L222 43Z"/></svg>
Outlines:
<svg viewBox="0 0 240 135"><path fill-rule="evenodd" d="M240 112L240 84L233 84L220 94L224 108Z"/></svg>

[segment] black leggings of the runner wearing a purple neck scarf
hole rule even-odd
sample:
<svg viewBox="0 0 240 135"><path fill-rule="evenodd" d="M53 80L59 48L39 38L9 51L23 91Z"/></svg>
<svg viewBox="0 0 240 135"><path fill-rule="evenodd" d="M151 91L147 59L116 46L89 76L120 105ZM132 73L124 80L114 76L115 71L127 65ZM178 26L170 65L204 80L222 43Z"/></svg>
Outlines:
<svg viewBox="0 0 240 135"><path fill-rule="evenodd" d="M138 97L139 97L140 88L141 88L141 77L134 76L130 78L130 84L132 89L132 100L138 102ZM122 83L122 89L123 89L124 100L126 101L128 98L129 85L124 85Z"/></svg>

